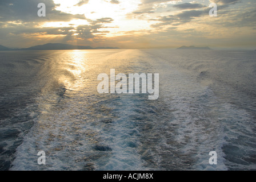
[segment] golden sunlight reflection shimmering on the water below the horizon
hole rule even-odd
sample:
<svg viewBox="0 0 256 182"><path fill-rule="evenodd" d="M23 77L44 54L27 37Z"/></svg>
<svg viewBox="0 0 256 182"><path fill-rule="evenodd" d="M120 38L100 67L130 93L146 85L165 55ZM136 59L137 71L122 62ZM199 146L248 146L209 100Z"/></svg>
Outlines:
<svg viewBox="0 0 256 182"><path fill-rule="evenodd" d="M129 55L129 52L131 50L121 51L118 49L59 51L61 56L58 56L55 66L59 67L61 74L54 75L58 78L59 84L63 85L67 91L85 92L86 89L87 92L93 92L93 90L97 92L97 76L100 73L109 74L111 68L118 68L118 72L124 71L122 68L124 56ZM106 53L107 56L101 57L99 60L95 56L92 57L95 53L98 54L98 57ZM108 54L110 55L108 56ZM117 56L121 56L121 59L113 61L113 58ZM65 57L65 59L61 57ZM88 90L88 88L91 89Z"/></svg>

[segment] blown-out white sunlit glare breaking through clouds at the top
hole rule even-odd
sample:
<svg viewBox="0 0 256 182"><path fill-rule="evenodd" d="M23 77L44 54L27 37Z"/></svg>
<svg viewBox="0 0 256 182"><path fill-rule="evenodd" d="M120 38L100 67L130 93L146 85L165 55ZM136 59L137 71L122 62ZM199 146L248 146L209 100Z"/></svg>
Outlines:
<svg viewBox="0 0 256 182"><path fill-rule="evenodd" d="M78 6L81 0L53 0L57 5L56 10L69 14L82 14L85 19L72 19L69 22L46 22L42 27L74 27L90 25L91 21L101 18L111 18L113 21L102 27L102 31L109 32L105 36L122 35L125 31L136 31L150 28L150 23L145 20L129 19L127 14L138 8L138 0L119 0L119 3L111 3L110 0L89 0ZM74 32L75 34L75 32Z"/></svg>

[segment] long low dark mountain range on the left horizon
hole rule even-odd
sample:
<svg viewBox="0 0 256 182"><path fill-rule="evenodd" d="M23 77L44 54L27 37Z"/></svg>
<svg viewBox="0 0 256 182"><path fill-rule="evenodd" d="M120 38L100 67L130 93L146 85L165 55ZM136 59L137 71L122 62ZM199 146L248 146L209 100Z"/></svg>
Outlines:
<svg viewBox="0 0 256 182"><path fill-rule="evenodd" d="M72 49L118 49L118 47L96 47L90 46L73 46L70 44L48 43L44 45L33 46L29 48L11 49L0 45L0 51L30 51L30 50L72 50Z"/></svg>

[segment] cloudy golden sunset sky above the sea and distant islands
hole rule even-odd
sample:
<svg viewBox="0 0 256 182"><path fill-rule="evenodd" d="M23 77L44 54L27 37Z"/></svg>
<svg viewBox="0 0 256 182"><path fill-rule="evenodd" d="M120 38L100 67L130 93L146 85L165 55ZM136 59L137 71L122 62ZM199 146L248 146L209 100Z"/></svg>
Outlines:
<svg viewBox="0 0 256 182"><path fill-rule="evenodd" d="M38 16L45 3L46 16ZM217 16L210 16L216 3ZM255 0L0 0L0 45L256 49Z"/></svg>

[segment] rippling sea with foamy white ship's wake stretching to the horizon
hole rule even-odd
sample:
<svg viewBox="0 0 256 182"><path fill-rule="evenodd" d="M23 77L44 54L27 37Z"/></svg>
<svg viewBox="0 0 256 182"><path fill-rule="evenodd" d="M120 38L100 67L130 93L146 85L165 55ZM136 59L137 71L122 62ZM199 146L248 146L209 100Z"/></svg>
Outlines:
<svg viewBox="0 0 256 182"><path fill-rule="evenodd" d="M110 69L158 99L99 94ZM256 170L256 51L1 51L0 170Z"/></svg>

